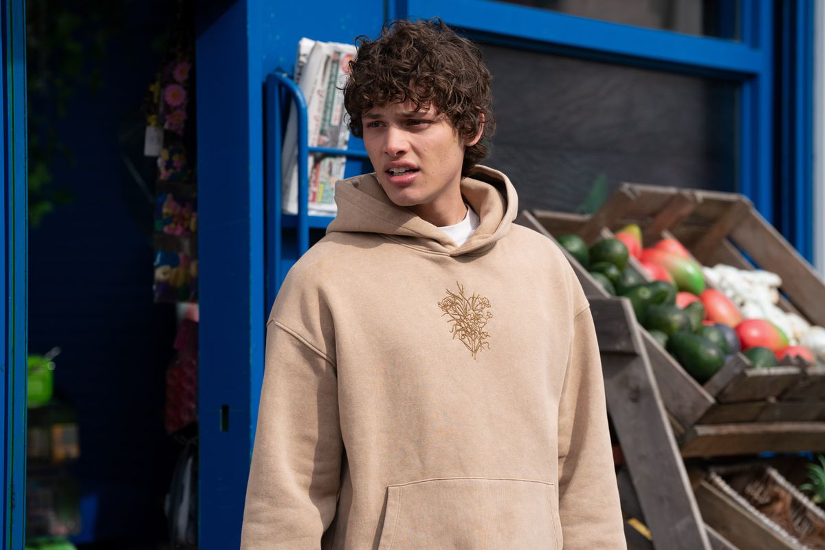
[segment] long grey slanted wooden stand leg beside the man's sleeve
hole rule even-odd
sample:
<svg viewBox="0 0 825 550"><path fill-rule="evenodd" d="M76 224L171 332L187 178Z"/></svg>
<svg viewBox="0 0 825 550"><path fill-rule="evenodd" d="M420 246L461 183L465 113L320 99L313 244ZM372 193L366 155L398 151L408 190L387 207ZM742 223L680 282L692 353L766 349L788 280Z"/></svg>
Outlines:
<svg viewBox="0 0 825 550"><path fill-rule="evenodd" d="M709 539L667 421L633 308L626 299L593 299L591 310L594 318L602 319L624 313L625 329L640 352L639 355L603 352L601 368L610 419L655 546L709 550ZM667 502L667 506L663 506L663 502Z"/></svg>

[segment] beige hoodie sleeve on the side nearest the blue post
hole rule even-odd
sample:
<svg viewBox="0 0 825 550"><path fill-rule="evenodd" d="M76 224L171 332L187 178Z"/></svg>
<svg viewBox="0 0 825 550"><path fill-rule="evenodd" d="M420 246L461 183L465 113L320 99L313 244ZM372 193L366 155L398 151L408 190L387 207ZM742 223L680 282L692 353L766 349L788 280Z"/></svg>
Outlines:
<svg viewBox="0 0 825 550"><path fill-rule="evenodd" d="M270 320L242 550L320 548L336 512L342 451L333 360Z"/></svg>

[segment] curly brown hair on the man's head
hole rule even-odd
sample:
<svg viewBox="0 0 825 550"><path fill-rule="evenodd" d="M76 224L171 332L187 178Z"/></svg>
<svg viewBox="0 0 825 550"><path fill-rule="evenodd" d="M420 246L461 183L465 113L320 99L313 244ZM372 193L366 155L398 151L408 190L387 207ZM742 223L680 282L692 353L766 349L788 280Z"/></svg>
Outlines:
<svg viewBox="0 0 825 550"><path fill-rule="evenodd" d="M364 135L361 115L373 106L412 100L417 109L435 106L447 116L459 136L470 141L482 129L482 139L464 148L461 175L487 156L484 141L493 136L493 76L481 50L455 34L437 17L429 21L392 21L377 40L356 38L358 54L350 61L344 106L350 130Z"/></svg>

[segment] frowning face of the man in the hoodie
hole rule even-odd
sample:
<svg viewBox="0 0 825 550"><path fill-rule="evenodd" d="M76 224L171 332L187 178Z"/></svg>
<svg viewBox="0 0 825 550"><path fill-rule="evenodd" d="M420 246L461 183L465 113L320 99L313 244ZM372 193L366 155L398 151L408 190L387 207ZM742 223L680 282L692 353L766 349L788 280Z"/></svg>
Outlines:
<svg viewBox="0 0 825 550"><path fill-rule="evenodd" d="M436 107L415 110L413 101L374 106L362 115L364 145L384 192L436 225L464 204L459 184L464 143Z"/></svg>

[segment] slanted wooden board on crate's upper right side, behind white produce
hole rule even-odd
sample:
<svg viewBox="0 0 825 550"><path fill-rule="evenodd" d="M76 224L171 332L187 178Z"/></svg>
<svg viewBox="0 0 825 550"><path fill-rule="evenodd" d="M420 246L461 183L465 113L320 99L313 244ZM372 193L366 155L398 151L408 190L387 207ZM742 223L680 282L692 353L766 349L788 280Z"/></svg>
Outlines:
<svg viewBox="0 0 825 550"><path fill-rule="evenodd" d="M762 269L782 278L782 289L808 321L825 326L825 283L756 209L733 228L731 237Z"/></svg>

